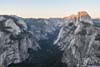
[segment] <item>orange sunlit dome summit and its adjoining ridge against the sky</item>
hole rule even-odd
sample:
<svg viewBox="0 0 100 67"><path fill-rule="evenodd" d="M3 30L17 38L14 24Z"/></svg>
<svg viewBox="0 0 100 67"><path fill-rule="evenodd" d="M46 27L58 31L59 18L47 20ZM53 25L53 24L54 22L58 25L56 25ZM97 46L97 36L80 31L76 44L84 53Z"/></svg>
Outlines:
<svg viewBox="0 0 100 67"><path fill-rule="evenodd" d="M79 11L77 14L72 14L65 18L68 19L69 22L74 23L75 26L77 26L77 24L83 21L85 23L93 24L92 18L89 16L89 14L86 11Z"/></svg>

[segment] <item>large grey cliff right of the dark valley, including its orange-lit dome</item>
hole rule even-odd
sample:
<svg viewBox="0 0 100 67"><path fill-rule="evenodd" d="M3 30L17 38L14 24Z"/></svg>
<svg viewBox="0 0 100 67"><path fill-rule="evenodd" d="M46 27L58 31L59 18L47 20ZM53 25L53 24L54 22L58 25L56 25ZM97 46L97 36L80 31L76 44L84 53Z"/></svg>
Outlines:
<svg viewBox="0 0 100 67"><path fill-rule="evenodd" d="M87 67L100 64L100 28L86 12L79 12L74 22L61 29L56 45L64 50L62 62L68 67Z"/></svg>

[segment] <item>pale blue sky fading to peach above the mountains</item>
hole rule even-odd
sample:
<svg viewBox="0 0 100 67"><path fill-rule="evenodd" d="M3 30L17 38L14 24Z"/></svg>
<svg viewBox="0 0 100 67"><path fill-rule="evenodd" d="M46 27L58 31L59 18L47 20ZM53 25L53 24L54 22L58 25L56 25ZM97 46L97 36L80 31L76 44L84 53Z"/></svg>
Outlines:
<svg viewBox="0 0 100 67"><path fill-rule="evenodd" d="M0 0L0 15L24 18L66 17L87 11L100 18L100 0Z"/></svg>

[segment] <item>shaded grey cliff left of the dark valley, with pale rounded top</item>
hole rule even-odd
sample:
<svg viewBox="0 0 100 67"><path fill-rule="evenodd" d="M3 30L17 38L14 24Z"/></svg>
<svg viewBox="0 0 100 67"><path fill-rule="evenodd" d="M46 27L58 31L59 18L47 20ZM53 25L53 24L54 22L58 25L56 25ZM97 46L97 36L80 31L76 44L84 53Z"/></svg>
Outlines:
<svg viewBox="0 0 100 67"><path fill-rule="evenodd" d="M0 16L0 65L25 61L29 48L39 47L25 22L19 17Z"/></svg>

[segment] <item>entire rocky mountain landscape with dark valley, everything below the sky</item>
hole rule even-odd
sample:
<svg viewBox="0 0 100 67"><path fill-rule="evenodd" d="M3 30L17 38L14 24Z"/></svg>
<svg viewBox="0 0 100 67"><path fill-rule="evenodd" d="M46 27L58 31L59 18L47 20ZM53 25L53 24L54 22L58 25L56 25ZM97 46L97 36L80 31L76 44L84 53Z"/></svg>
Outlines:
<svg viewBox="0 0 100 67"><path fill-rule="evenodd" d="M0 66L100 65L100 20L85 12L65 18L0 15Z"/></svg>

